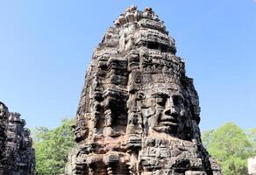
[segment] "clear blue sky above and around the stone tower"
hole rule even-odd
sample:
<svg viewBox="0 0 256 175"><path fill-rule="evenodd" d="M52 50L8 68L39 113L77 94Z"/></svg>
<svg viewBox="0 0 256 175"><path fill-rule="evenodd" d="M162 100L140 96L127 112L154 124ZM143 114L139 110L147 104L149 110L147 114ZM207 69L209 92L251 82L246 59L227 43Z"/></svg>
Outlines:
<svg viewBox="0 0 256 175"><path fill-rule="evenodd" d="M0 100L29 128L74 116L84 74L124 9L150 6L175 38L202 108L202 130L256 127L256 1L0 0Z"/></svg>

